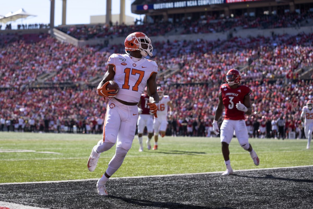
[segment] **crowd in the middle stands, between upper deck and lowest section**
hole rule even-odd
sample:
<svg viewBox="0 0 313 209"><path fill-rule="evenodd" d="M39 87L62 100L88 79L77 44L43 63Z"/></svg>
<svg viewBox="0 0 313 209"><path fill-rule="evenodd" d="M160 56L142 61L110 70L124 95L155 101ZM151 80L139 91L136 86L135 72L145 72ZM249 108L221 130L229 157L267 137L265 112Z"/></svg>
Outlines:
<svg viewBox="0 0 313 209"><path fill-rule="evenodd" d="M14 40L10 37L8 42ZM10 39L11 38L11 39ZM269 38L232 38L228 41L156 42L153 59L159 72L177 66L178 72L160 76L158 84L216 83L228 69L242 69L245 79L298 78L295 69L312 66L313 34L280 35ZM54 38L40 39L37 43L25 41L0 47L0 87L21 87L35 83L38 76L54 73L46 82L88 82L107 70L106 61L111 53L121 53L122 45L105 50L100 46L78 48L60 43ZM31 60L31 61L29 61Z"/></svg>

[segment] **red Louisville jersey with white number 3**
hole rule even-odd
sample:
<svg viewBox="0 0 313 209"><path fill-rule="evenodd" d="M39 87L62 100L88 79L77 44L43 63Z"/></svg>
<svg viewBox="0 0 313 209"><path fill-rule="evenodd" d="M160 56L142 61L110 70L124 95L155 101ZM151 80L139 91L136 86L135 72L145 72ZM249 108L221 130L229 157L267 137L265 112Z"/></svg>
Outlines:
<svg viewBox="0 0 313 209"><path fill-rule="evenodd" d="M225 120L244 120L244 112L237 110L236 104L244 104L245 95L250 94L250 89L246 85L231 89L228 84L221 85L223 105L225 107Z"/></svg>

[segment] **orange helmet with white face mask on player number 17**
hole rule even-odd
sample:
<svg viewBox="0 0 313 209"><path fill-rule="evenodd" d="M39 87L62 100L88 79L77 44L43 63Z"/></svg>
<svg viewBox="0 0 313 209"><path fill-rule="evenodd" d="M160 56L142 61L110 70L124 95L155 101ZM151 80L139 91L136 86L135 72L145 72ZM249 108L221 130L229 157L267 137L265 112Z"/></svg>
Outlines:
<svg viewBox="0 0 313 209"><path fill-rule="evenodd" d="M146 49L142 48L141 44L146 44L147 48ZM152 54L153 47L151 44L151 40L144 33L135 32L129 34L125 39L124 45L126 54L129 54L128 51L139 50L140 54L143 57L146 57L148 54L150 57L152 57L153 55Z"/></svg>

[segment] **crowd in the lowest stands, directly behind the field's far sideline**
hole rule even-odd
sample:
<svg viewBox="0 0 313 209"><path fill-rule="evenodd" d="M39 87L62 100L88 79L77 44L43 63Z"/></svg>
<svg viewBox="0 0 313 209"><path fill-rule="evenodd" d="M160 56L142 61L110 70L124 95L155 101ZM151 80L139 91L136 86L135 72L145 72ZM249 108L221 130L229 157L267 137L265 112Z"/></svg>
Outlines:
<svg viewBox="0 0 313 209"><path fill-rule="evenodd" d="M275 83L246 82L251 89L254 113L249 117L251 123L286 120L285 133L297 131L301 137L300 113L308 99L313 99L312 81L298 81L284 85L280 80ZM166 87L174 105L174 118L169 121L167 133L171 135L212 135L209 131L211 120L218 103L220 83L214 85L170 85ZM106 111L106 101L95 94L95 88L51 89L7 89L0 93L1 121L3 128L9 120L11 130L31 131L69 131L98 133ZM23 120L23 121L22 121ZM33 120L35 124L33 124ZM99 124L97 123L100 120ZM20 125L17 125L20 121ZM187 126L193 127L191 133ZM277 125L276 125L277 126ZM76 127L75 129L73 129ZM254 134L261 135L259 131ZM4 130L2 128L2 130ZM277 127L274 127L276 130ZM276 131L276 133L278 130ZM269 132L267 132L269 133ZM272 136L272 128L270 128ZM285 135L284 133L284 135ZM265 135L265 133L264 133ZM278 137L278 135L273 135Z"/></svg>

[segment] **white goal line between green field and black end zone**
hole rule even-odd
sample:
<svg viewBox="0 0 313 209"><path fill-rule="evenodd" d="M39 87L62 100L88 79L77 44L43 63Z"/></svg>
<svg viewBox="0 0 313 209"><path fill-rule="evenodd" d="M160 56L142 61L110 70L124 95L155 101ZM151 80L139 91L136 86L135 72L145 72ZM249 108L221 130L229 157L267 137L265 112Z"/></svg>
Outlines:
<svg viewBox="0 0 313 209"><path fill-rule="evenodd" d="M305 168L312 167L310 166L289 166L289 167L275 167L275 168L255 168L255 169L243 169L243 170L234 170L234 172L239 171L261 171L261 170L275 170L275 169L286 169L286 168ZM201 175L201 174L218 174L223 173L224 171L213 171L213 172L203 172L203 173L180 173L180 174L166 174L166 175L153 175L153 176L126 176L126 177L112 177L110 179L138 179L138 178L151 178L151 177L168 177L168 176L189 176L189 175ZM78 180L61 180L61 181L32 181L32 182L13 182L13 183L1 183L0 185L8 184L40 184L40 183L61 183L61 182L79 182L79 181L96 181L97 179L78 179Z"/></svg>

